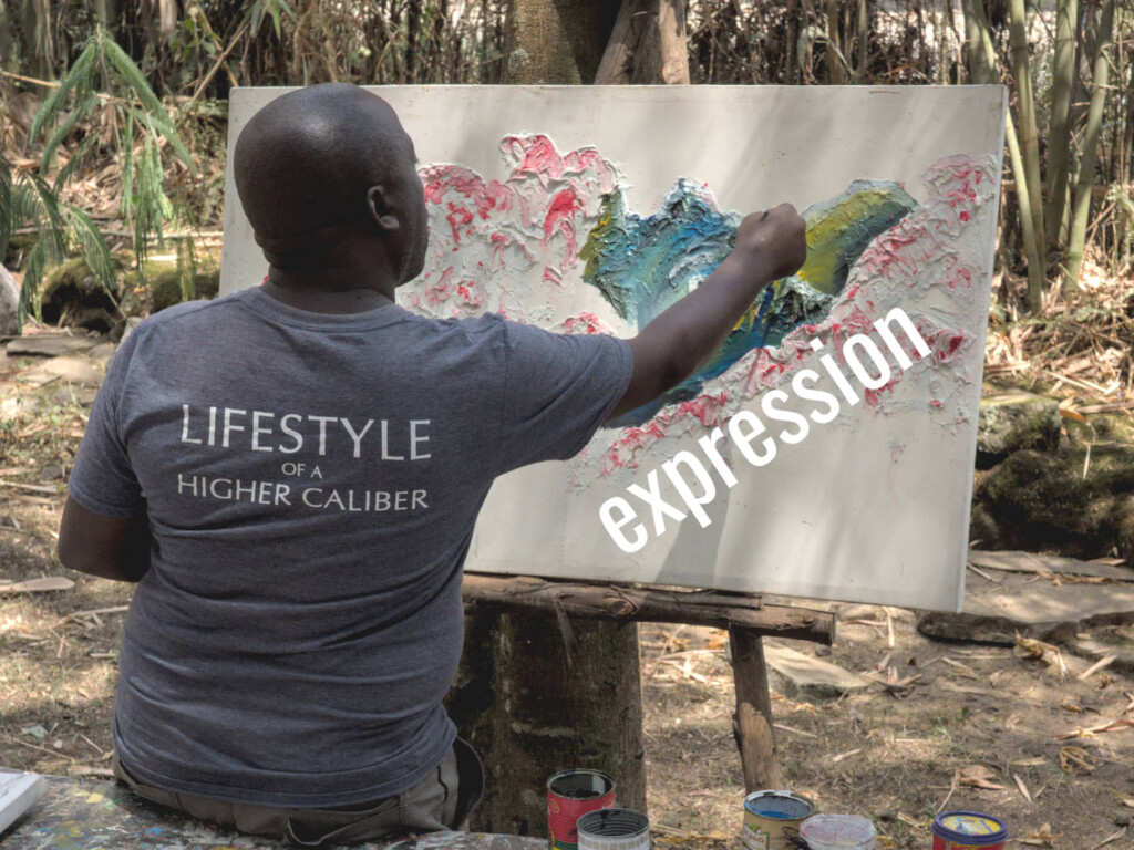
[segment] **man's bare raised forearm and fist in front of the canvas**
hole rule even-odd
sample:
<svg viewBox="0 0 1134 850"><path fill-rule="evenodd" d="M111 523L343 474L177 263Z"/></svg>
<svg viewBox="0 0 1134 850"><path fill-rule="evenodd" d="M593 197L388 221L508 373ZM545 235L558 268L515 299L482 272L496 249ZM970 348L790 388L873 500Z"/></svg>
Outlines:
<svg viewBox="0 0 1134 850"><path fill-rule="evenodd" d="M746 216L725 262L627 340L634 372L609 418L641 407L692 375L721 346L761 290L797 271L806 254L804 221L790 204Z"/></svg>

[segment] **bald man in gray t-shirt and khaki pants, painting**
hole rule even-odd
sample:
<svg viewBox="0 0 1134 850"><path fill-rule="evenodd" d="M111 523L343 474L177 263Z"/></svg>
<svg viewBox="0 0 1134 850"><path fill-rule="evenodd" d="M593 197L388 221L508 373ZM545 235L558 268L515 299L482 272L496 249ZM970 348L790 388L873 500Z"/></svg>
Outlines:
<svg viewBox="0 0 1134 850"><path fill-rule="evenodd" d="M234 170L266 281L143 322L70 476L60 559L138 583L116 771L245 832L464 822L479 764L441 699L492 481L679 383L804 260L784 205L628 341L428 320L393 304L429 238L414 163L393 110L353 86L253 117Z"/></svg>

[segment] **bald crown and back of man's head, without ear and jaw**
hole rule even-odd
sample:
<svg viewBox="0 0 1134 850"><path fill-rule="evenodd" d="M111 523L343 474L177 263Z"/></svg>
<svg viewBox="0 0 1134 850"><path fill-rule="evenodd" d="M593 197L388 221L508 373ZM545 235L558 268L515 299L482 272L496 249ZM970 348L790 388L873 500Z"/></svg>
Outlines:
<svg viewBox="0 0 1134 850"><path fill-rule="evenodd" d="M232 171L256 241L272 264L318 257L366 228L373 186L421 192L413 143L393 109L355 86L325 84L277 97L236 143Z"/></svg>

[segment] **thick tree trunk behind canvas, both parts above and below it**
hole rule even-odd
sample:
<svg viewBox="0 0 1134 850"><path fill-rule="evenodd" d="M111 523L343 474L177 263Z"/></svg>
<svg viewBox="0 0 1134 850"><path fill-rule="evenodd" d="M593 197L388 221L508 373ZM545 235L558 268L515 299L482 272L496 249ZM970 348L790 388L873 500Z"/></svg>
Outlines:
<svg viewBox="0 0 1134 850"><path fill-rule="evenodd" d="M505 82L565 84L594 78L618 8L511 0L508 12ZM479 609L465 623L447 702L484 760L473 827L547 835L547 781L568 767L609 773L619 805L645 811L637 627Z"/></svg>

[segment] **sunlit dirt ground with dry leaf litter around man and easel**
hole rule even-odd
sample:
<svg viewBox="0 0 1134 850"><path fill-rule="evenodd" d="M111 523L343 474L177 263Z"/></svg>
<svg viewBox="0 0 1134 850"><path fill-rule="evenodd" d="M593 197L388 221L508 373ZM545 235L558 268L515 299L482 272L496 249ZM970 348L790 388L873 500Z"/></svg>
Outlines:
<svg viewBox="0 0 1134 850"><path fill-rule="evenodd" d="M66 376L45 381L42 366L0 355L0 584L66 576L75 586L0 589L0 764L109 776L130 586L69 573L53 556L60 474L74 459L92 388ZM1012 647L931 640L916 631L913 611L835 607L844 622L833 648L785 643L875 681L812 702L773 687L788 788L820 810L870 817L881 848L928 848L933 815L946 807L998 815L1014 845L1134 847L1129 673L1107 668L1080 678L1094 660L1068 647L1060 672L1050 653L1044 661ZM1093 636L1107 638L1103 630ZM726 645L712 629L642 629L658 847L739 847L733 836L744 785Z"/></svg>

